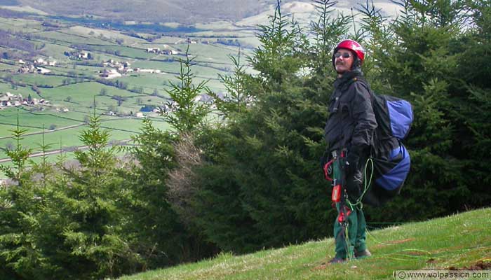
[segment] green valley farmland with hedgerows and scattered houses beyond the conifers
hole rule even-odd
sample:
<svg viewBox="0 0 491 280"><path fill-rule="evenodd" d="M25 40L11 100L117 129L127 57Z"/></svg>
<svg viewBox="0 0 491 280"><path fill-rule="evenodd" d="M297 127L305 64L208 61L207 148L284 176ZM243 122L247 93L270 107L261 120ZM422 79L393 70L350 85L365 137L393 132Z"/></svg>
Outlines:
<svg viewBox="0 0 491 280"><path fill-rule="evenodd" d="M8 162L5 148L15 144L11 130L17 119L26 131L20 143L33 151L39 149L43 127L45 142L52 143L53 149L80 146L79 134L86 128L94 105L112 141L130 139L140 131L141 119L135 118L140 109L168 102L167 91L171 83L178 84L176 76L186 52L192 59L194 83L207 81L213 92L224 92L218 74L231 73L229 56L238 55L239 49L241 56L251 55L258 43L254 27L237 27L226 21L196 23L189 34L180 31L185 30L180 24L162 24L170 30L163 34L151 29L106 29L84 25L85 21L78 18L53 19L32 9L19 11L25 14L0 18L0 33L12 40L0 42L0 97L9 93L37 102L44 99L48 104L0 107L2 164ZM152 53L148 48L177 53ZM123 64L131 71L121 70ZM34 71L27 69L29 65ZM36 73L34 67L48 73ZM121 76L101 78L100 73L109 69L116 69ZM250 67L246 69L251 71ZM156 127L168 129L158 114L143 113L154 120ZM54 158L50 156L50 160Z"/></svg>

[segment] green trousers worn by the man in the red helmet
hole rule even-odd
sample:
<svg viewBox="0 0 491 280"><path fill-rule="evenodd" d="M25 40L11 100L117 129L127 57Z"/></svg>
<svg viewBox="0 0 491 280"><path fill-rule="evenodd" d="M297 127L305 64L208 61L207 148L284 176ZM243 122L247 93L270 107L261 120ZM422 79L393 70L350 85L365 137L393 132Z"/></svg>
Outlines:
<svg viewBox="0 0 491 280"><path fill-rule="evenodd" d="M342 181L341 161L342 159L338 158L333 164L333 176L337 182ZM337 202L336 209L337 218L334 223L336 258L354 258L355 251L360 252L367 248L365 215L361 207L351 207L347 201Z"/></svg>

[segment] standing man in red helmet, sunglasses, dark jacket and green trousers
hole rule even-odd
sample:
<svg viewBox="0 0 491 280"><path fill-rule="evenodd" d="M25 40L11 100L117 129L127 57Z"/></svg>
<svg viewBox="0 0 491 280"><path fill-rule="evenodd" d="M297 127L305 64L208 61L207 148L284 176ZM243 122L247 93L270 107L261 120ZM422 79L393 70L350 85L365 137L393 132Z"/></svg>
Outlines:
<svg viewBox="0 0 491 280"><path fill-rule="evenodd" d="M333 160L332 178L341 192L339 200L335 200L336 255L331 263L371 255L365 244L365 216L361 203L357 203L363 193L363 169L377 127L367 83L358 82L363 78L364 58L363 48L353 40L341 41L332 55L337 79L329 101L324 137Z"/></svg>

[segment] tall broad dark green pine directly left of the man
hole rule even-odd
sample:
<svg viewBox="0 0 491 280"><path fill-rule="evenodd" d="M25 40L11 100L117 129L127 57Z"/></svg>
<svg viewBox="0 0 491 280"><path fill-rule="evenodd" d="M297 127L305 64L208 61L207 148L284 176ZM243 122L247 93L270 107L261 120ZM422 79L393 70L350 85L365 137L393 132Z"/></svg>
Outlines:
<svg viewBox="0 0 491 280"><path fill-rule="evenodd" d="M196 223L222 250L248 252L325 235L329 203L316 154L324 119L306 101L325 92L304 86L298 72L309 66L309 42L287 18L278 2L261 27L262 45L250 58L259 74L247 85L255 102L201 138L207 164L197 170L194 205L204 215Z"/></svg>

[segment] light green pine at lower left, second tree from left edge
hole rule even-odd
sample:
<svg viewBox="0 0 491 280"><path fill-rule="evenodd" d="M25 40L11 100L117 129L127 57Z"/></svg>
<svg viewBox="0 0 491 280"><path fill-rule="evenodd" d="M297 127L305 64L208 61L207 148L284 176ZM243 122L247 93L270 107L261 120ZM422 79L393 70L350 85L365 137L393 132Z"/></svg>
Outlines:
<svg viewBox="0 0 491 280"><path fill-rule="evenodd" d="M141 260L123 232L123 177L95 111L79 138L87 151L74 152L78 165L60 166L43 214L45 249L56 267L52 276L100 279L134 272Z"/></svg>

